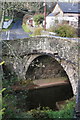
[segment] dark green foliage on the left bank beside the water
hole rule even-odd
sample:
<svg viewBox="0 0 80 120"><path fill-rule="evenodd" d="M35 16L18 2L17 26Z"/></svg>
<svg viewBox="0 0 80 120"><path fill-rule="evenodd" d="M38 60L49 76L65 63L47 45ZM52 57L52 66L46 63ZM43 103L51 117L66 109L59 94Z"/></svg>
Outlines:
<svg viewBox="0 0 80 120"><path fill-rule="evenodd" d="M9 72L9 71L8 71ZM6 90L3 92L3 108L6 108L3 119L7 118L21 118L23 117L23 111L26 107L27 100L27 90L19 91L17 94L11 86L17 84L18 78L15 75L12 75L10 79L4 78L3 86L6 86ZM20 80L19 80L20 81ZM22 102L23 101L23 102Z"/></svg>

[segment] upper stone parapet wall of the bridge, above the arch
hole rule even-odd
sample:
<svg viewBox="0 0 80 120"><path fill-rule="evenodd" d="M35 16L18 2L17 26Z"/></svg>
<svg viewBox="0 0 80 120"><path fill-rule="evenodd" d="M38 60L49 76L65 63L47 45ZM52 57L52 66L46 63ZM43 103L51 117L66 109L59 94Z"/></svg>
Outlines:
<svg viewBox="0 0 80 120"><path fill-rule="evenodd" d="M77 62L78 60L78 40L65 39L61 37L31 37L22 40L5 41L11 50L19 56L34 51L44 52L51 51L58 53L61 58ZM5 50L5 49L4 49ZM5 53L5 52L4 52ZM6 54L9 49L6 48ZM11 53L10 53L11 54ZM13 53L12 53L13 54Z"/></svg>

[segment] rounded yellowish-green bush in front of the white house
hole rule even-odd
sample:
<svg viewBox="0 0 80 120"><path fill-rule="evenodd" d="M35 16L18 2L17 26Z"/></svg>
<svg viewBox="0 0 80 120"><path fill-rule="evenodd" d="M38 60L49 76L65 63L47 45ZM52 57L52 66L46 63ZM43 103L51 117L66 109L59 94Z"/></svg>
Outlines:
<svg viewBox="0 0 80 120"><path fill-rule="evenodd" d="M76 37L75 28L68 26L68 25L58 26L55 32L61 37Z"/></svg>

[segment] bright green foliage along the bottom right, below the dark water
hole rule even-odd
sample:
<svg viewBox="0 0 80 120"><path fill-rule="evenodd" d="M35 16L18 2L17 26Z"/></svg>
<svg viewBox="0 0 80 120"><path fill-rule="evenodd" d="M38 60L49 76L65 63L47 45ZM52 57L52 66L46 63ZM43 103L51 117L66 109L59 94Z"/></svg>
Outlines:
<svg viewBox="0 0 80 120"><path fill-rule="evenodd" d="M54 119L54 118L73 118L73 112L75 107L75 101L67 101L66 105L63 105L62 109L59 111L53 111L48 107L32 109L27 112L27 116L37 119Z"/></svg>

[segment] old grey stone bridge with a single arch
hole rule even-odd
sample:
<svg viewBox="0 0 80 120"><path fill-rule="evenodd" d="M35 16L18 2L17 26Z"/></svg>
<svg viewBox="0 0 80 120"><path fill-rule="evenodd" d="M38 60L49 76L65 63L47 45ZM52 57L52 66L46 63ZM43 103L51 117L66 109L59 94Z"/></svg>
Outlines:
<svg viewBox="0 0 80 120"><path fill-rule="evenodd" d="M78 39L37 36L21 40L2 41L2 56L20 79L38 56L48 55L60 63L76 95L78 82Z"/></svg>

